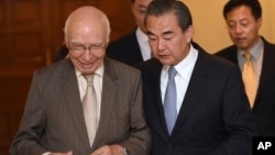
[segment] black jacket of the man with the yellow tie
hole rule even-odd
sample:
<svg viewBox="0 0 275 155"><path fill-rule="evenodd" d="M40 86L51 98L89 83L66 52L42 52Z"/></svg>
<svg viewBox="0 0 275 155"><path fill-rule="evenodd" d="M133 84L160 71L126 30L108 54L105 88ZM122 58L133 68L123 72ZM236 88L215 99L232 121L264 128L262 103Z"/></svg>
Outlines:
<svg viewBox="0 0 275 155"><path fill-rule="evenodd" d="M275 45L264 40L263 66L253 114L258 135L275 136ZM229 46L217 53L238 65L237 46Z"/></svg>

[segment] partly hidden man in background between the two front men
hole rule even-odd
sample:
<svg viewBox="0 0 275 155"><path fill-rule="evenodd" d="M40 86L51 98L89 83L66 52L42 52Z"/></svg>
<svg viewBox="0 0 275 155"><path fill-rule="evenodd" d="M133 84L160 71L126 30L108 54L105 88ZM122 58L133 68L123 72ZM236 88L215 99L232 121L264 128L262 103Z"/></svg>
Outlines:
<svg viewBox="0 0 275 155"><path fill-rule="evenodd" d="M107 47L107 55L109 57L131 66L152 57L143 23L147 5L151 1L131 0L132 13L138 27L125 36L110 43Z"/></svg>

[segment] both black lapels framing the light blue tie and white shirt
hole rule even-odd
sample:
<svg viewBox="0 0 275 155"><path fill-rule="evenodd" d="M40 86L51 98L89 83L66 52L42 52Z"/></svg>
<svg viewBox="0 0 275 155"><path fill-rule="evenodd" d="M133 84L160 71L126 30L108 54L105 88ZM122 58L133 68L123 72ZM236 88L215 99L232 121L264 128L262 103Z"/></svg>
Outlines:
<svg viewBox="0 0 275 155"><path fill-rule="evenodd" d="M179 114L174 128L174 131L172 133L172 137L176 136L176 132L180 129L182 125L184 125L184 119L186 115L188 115L194 108L196 108L199 98L202 96L202 92L205 91L205 88L207 87L208 80L210 78L209 74L207 73L207 64L205 63L206 54L205 52L199 52L197 63L195 65L189 86L186 91L185 99L183 101L182 108L179 110ZM157 60L156 60L157 62ZM163 140L167 141L169 139L169 134L167 131L165 117L164 117L164 109L163 109L163 102L161 97L161 71L162 71L162 64L158 62L153 62L152 66L155 66L154 69L148 69L146 75L148 78L148 85L152 87L150 92L152 93L153 100L153 109L156 110L157 121L161 124L161 126L155 126L157 132L160 132L160 136L163 137ZM161 130L162 129L162 130Z"/></svg>

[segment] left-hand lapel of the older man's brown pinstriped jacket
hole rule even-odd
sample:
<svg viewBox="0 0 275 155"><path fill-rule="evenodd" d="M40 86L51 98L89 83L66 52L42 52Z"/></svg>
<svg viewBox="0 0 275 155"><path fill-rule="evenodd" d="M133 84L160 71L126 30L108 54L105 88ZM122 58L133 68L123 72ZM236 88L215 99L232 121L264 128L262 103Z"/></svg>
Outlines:
<svg viewBox="0 0 275 155"><path fill-rule="evenodd" d="M81 107L81 100L79 95L78 82L75 74L74 66L70 60L67 60L67 65L64 67L64 74L62 79L62 87L66 98L66 106L68 107L72 121L78 131L80 140L82 140L84 147L89 148L88 133L86 130L84 112Z"/></svg>

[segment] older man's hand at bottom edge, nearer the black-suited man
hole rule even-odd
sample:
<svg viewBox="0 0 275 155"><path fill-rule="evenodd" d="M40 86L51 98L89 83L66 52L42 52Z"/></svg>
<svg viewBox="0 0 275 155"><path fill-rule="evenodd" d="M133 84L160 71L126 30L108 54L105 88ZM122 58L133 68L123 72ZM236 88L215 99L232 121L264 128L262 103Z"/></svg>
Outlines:
<svg viewBox="0 0 275 155"><path fill-rule="evenodd" d="M96 150L91 155L124 155L124 148L121 145L105 145Z"/></svg>

